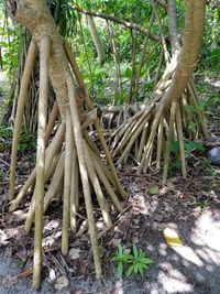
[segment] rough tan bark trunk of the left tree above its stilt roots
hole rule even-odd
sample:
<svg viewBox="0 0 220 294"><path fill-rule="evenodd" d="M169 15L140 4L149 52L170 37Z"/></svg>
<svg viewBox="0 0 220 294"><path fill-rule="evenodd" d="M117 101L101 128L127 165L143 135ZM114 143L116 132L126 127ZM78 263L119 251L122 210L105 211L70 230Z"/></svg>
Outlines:
<svg viewBox="0 0 220 294"><path fill-rule="evenodd" d="M41 39L44 35L48 35L53 40L52 54L50 56L50 78L56 94L61 115L65 119L64 106L68 102L65 73L69 73L69 67L62 36L57 32L46 1L20 0L16 3L15 18L32 33L37 46L40 47Z"/></svg>

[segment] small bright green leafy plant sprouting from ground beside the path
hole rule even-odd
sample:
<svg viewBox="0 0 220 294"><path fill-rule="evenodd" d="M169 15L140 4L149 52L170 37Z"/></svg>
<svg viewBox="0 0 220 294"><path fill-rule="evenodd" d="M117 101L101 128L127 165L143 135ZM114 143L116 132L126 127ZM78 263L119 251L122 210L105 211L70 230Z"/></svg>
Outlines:
<svg viewBox="0 0 220 294"><path fill-rule="evenodd" d="M146 257L146 253L136 246L133 246L132 253L127 253L122 246L119 246L118 251L114 253L112 260L118 264L118 272L123 276L130 276L134 273L143 276L144 271L153 263L153 260Z"/></svg>

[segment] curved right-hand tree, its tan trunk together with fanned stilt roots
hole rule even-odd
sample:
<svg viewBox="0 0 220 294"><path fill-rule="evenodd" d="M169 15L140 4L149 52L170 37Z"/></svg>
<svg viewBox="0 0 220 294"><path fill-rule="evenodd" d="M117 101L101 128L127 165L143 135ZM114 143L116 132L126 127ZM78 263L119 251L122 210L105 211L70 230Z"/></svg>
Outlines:
<svg viewBox="0 0 220 294"><path fill-rule="evenodd" d="M152 1L156 14L154 2ZM125 162L134 151L139 162L139 172L145 173L152 161L161 166L164 155L164 182L167 177L169 146L172 141L179 141L183 175L186 176L183 129L187 130L190 118L186 104L196 109L198 131L206 137L207 129L204 113L199 108L198 95L191 80L201 46L206 1L186 1L186 21L180 48L176 21L176 2L168 1L169 32L172 36L172 58L157 84L152 99L130 120L120 126L112 135L114 153L121 155L118 163ZM157 23L160 20L157 19ZM148 134L148 137L146 137ZM174 140L175 139L175 140ZM117 143L119 142L119 143ZM155 146L156 144L156 146ZM155 152L156 151L156 152ZM154 153L156 153L154 155Z"/></svg>

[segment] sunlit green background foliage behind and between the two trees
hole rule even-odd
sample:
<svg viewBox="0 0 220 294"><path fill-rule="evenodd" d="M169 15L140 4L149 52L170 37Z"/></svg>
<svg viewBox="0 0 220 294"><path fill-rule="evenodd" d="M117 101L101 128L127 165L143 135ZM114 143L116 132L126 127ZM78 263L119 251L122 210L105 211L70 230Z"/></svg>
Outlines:
<svg viewBox="0 0 220 294"><path fill-rule="evenodd" d="M123 91L120 92L116 90L117 75L116 75L116 64L112 58L112 50L109 42L108 30L105 20L95 18L98 33L105 45L105 51L107 55L107 62L105 65L99 65L96 61L97 52L94 46L90 32L87 28L87 21L85 15L78 14L74 9L74 4L78 7L103 12L106 14L111 14L117 18L132 21L139 23L142 26L148 29L150 20L152 18L152 7L148 0L47 0L52 14L55 18L59 32L65 37L68 37L73 47L76 51L77 62L84 77L86 79L89 92L96 102L106 105L111 104L112 100L117 105L122 105L127 101L130 91L130 81L132 77L132 41L131 41L131 30L125 29L122 25L113 24L112 30L114 34L116 47L119 55L119 63L121 67L121 79ZM183 33L184 22L185 22L185 3L182 0L177 0L177 15L178 15L178 26L179 32ZM168 21L167 14L161 6L157 6L157 12L163 26L163 33L166 36L168 34ZM0 4L0 13L3 15L3 7ZM212 9L211 4L207 8L206 18L206 32L205 32L205 45L202 47L201 54L201 65L200 69L215 69L218 73L219 68L219 8ZM81 24L79 24L79 21ZM81 28L80 28L81 25ZM19 26L14 26L10 23L9 28L4 30L3 23L0 22L0 39L3 52L3 66L4 69L10 72L12 76L13 70L18 64L18 56L21 50L22 33ZM18 30L19 29L19 30ZM155 35L160 35L158 25L156 21L153 22L151 31ZM8 35L10 36L10 42L8 42ZM141 54L143 50L145 35L136 33L136 62L135 70L139 67ZM143 99L152 92L155 85L155 75L157 72L158 58L161 46L157 46L151 55L148 53L154 48L155 43L151 40L147 42L145 58L146 64L142 67L141 78L139 81L139 90L135 96L136 101L143 101ZM161 70L161 75L163 73ZM217 99L217 97L215 98ZM190 108L190 106L189 106ZM197 112L195 108L188 108L188 111L194 113ZM195 126L191 123L188 126L189 129L194 129Z"/></svg>

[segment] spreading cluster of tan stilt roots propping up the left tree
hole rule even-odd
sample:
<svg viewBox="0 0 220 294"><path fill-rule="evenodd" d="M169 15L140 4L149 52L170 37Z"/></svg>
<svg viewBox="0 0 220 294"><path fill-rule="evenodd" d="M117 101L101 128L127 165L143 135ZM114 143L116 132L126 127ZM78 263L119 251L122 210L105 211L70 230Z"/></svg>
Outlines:
<svg viewBox="0 0 220 294"><path fill-rule="evenodd" d="M82 189L96 275L100 277L102 275L102 269L94 210L94 203L96 203L96 200L91 199L91 193L97 197L97 203L107 228L113 225L111 217L112 208L113 211L122 213L123 206L121 200L127 196L119 181L100 128L99 111L95 109L86 91L80 70L67 43L64 44L64 51L75 76L70 75L70 73L67 75L68 104L63 108L65 109L65 119L63 118L59 126L56 126L57 130L51 140L51 134L59 112L58 105L55 102L48 122L45 124L44 132L42 133L42 117L44 107L46 107L46 97L40 94L36 167L32 171L14 198L16 150L24 108L22 98L18 100L15 121L20 123L15 123L12 145L9 195L11 200L10 211L19 207L28 192L33 192L24 230L29 233L32 230L33 224L35 225L34 287L40 286L41 280L43 215L51 204L54 205L54 203L63 202L62 253L67 254L69 250L69 233L70 231L76 233L77 215L80 205L84 206L81 197L79 197ZM29 84L31 75L29 75L28 78L26 70L30 67L30 58L31 56L33 57L34 52L36 52L36 44L32 41L26 58L28 65L24 68L24 75L21 81L21 91L25 88L24 86ZM32 62L34 62L34 59ZM40 63L42 61L40 61ZM33 65L30 68L33 68ZM31 70L29 70L29 73L31 73ZM44 84L41 87L41 80L40 69L40 89L43 90ZM43 92L47 92L47 88L45 88ZM21 94L23 95L23 92ZM22 95L20 95L20 97ZM43 101L41 97L43 97ZM84 110L85 108L87 109L86 113ZM99 148L89 135L89 126L94 126L97 131ZM101 152L106 155L106 163L101 160ZM48 186L47 189L45 188L46 184ZM118 198L118 195L121 195L121 200Z"/></svg>

